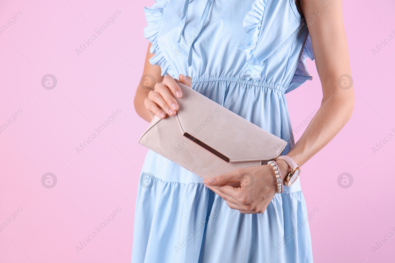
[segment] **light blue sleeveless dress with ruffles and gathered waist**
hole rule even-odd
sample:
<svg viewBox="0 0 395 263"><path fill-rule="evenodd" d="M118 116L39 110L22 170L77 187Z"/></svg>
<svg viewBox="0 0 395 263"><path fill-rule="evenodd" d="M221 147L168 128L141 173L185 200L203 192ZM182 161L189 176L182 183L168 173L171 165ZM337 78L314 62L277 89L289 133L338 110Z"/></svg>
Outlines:
<svg viewBox="0 0 395 263"><path fill-rule="evenodd" d="M150 62L294 145L284 93L311 77L294 0L157 0L145 8ZM171 136L171 134L169 134ZM274 176L274 175L273 175ZM300 180L301 179L301 180ZM301 178L262 214L241 214L197 175L148 151L137 193L133 263L309 263Z"/></svg>

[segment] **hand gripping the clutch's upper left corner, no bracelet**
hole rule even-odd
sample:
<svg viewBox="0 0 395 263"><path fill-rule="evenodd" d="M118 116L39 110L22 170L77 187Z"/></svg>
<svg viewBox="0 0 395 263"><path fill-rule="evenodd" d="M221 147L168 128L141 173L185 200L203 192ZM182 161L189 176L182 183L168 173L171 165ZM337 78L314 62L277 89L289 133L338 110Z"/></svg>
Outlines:
<svg viewBox="0 0 395 263"><path fill-rule="evenodd" d="M192 84L192 78L182 74L179 75L179 81L189 87ZM174 97L182 97L181 89L174 78L166 75L163 81L156 83L154 90L148 93L148 97L144 100L144 106L152 118L156 115L164 119L166 114L163 111L174 116L178 110L178 104Z"/></svg>

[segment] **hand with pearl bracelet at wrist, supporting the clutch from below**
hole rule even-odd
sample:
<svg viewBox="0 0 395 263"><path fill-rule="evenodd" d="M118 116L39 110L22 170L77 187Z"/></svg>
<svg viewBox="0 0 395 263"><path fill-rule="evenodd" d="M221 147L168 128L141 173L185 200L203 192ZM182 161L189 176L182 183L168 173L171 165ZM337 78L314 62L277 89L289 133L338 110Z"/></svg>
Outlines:
<svg viewBox="0 0 395 263"><path fill-rule="evenodd" d="M288 174L288 164L278 160L277 165L284 180L285 174ZM265 212L277 192L276 177L270 164L239 168L214 178L206 178L203 183L222 197L230 208L242 214ZM240 183L240 187L233 187L229 183Z"/></svg>

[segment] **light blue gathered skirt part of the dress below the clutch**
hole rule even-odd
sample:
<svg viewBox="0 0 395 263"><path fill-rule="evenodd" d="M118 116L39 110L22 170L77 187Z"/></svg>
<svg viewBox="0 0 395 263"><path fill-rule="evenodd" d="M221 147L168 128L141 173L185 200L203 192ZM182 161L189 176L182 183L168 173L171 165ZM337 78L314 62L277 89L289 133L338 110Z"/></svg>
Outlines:
<svg viewBox="0 0 395 263"><path fill-rule="evenodd" d="M203 179L149 151L139 179L132 263L310 263L298 179L261 214L241 214Z"/></svg>

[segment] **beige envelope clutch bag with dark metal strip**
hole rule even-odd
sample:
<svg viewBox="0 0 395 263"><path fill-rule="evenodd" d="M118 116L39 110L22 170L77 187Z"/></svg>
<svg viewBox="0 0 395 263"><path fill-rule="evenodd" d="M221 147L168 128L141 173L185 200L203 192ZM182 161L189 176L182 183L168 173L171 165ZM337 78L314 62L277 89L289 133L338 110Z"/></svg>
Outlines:
<svg viewBox="0 0 395 263"><path fill-rule="evenodd" d="M287 142L177 82L175 116L155 116L139 143L202 178L263 165Z"/></svg>

